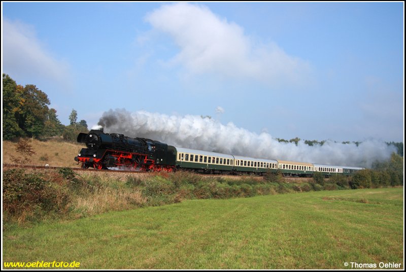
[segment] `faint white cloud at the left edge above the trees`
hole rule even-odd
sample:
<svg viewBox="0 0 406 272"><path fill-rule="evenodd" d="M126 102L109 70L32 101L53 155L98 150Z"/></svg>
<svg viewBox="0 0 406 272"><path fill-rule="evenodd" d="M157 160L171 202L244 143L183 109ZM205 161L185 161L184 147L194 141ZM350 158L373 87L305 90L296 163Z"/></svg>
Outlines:
<svg viewBox="0 0 406 272"><path fill-rule="evenodd" d="M3 19L3 71L14 79L36 76L65 83L69 67L50 54L32 26Z"/></svg>

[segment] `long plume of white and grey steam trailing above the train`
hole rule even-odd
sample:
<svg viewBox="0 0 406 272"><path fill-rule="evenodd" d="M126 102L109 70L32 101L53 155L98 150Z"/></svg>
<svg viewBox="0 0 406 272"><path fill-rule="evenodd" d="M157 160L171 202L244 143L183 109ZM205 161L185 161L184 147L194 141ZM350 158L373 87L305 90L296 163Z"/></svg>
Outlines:
<svg viewBox="0 0 406 272"><path fill-rule="evenodd" d="M270 134L250 132L200 116L168 116L159 113L110 110L100 118L105 132L123 133L128 137L149 138L168 145L215 151L266 159L293 160L331 165L370 167L387 160L394 147L368 140L359 146L327 141L323 146L309 146L300 141L279 143Z"/></svg>

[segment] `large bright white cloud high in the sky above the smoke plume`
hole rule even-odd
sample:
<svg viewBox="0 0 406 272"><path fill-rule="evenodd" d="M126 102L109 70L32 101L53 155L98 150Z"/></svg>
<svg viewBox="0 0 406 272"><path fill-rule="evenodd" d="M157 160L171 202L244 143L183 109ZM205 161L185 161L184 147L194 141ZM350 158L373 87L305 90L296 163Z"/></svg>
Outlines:
<svg viewBox="0 0 406 272"><path fill-rule="evenodd" d="M241 26L205 6L164 5L146 20L175 40L181 51L170 62L185 65L190 73L244 77L270 86L308 80L309 63L288 55L276 43L253 43Z"/></svg>

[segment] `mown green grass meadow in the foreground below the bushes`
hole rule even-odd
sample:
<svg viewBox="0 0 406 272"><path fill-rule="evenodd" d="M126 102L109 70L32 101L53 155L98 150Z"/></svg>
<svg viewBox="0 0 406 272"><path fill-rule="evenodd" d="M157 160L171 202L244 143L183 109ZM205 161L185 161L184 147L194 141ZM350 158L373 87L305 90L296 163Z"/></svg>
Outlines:
<svg viewBox="0 0 406 272"><path fill-rule="evenodd" d="M3 261L89 269L345 269L401 263L403 188L185 200L3 232ZM403 266L401 266L403 268Z"/></svg>

